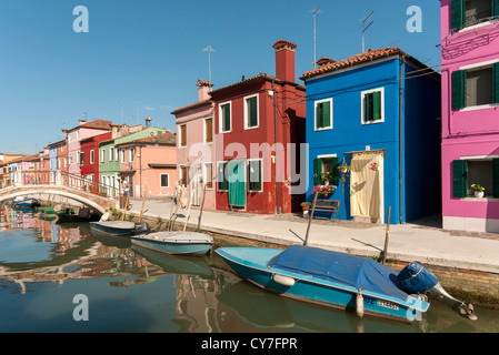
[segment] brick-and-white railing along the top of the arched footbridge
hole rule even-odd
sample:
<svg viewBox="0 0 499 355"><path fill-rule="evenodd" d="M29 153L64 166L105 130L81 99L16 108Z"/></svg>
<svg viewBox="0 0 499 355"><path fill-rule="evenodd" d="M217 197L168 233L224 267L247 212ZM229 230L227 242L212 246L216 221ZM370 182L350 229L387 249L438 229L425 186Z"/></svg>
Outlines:
<svg viewBox="0 0 499 355"><path fill-rule="evenodd" d="M0 174L0 191L1 189L11 186L19 187L36 185L67 186L99 196L121 200L121 190L119 187L109 186L98 181L92 181L61 171L16 171Z"/></svg>

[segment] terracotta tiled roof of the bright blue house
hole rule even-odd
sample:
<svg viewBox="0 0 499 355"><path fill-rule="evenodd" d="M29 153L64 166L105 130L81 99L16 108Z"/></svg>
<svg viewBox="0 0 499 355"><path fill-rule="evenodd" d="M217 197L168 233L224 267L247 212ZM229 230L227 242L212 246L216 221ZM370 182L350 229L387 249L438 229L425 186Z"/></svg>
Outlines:
<svg viewBox="0 0 499 355"><path fill-rule="evenodd" d="M370 62L370 61L373 61L377 59L387 58L387 57L391 57L391 55L403 55L403 57L411 58L413 61L417 61L416 59L413 59L412 57L410 57L409 54L407 54L406 52L400 50L400 48L398 48L398 47L382 48L382 49L376 49L376 50L370 49L367 52L363 52L363 53L360 53L360 54L357 54L357 55L353 55L353 57L350 57L350 58L347 58L347 59L343 59L340 61L331 61L330 63L323 64L317 69L305 72L303 78L301 78L301 79L303 79L303 80L310 79L312 77L317 77L320 74L329 73L332 71L358 65L361 63ZM423 65L423 64L421 64L421 65Z"/></svg>

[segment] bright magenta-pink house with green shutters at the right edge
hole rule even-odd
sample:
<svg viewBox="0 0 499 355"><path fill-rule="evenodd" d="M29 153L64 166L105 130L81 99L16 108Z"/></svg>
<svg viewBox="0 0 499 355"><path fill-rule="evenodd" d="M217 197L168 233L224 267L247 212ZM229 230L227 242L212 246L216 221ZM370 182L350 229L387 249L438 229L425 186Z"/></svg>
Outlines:
<svg viewBox="0 0 499 355"><path fill-rule="evenodd" d="M499 1L441 0L441 52L443 227L499 232Z"/></svg>

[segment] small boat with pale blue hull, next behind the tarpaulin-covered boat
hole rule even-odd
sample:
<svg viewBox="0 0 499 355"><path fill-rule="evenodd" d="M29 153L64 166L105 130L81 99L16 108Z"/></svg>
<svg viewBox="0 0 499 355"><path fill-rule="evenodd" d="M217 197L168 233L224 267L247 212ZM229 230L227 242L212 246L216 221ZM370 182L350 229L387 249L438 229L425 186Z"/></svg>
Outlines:
<svg viewBox="0 0 499 355"><path fill-rule="evenodd" d="M213 237L194 232L158 232L134 235L132 244L166 254L204 255L213 245Z"/></svg>

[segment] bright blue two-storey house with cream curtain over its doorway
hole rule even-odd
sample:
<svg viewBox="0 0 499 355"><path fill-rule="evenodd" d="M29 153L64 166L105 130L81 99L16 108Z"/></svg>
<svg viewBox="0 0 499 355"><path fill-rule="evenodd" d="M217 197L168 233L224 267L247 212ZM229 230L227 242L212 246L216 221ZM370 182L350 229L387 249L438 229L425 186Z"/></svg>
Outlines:
<svg viewBox="0 0 499 355"><path fill-rule="evenodd" d="M387 223L390 210L399 224L441 213L440 75L399 48L318 64L301 78L307 200L329 184L333 194L318 199L339 201L341 220Z"/></svg>

